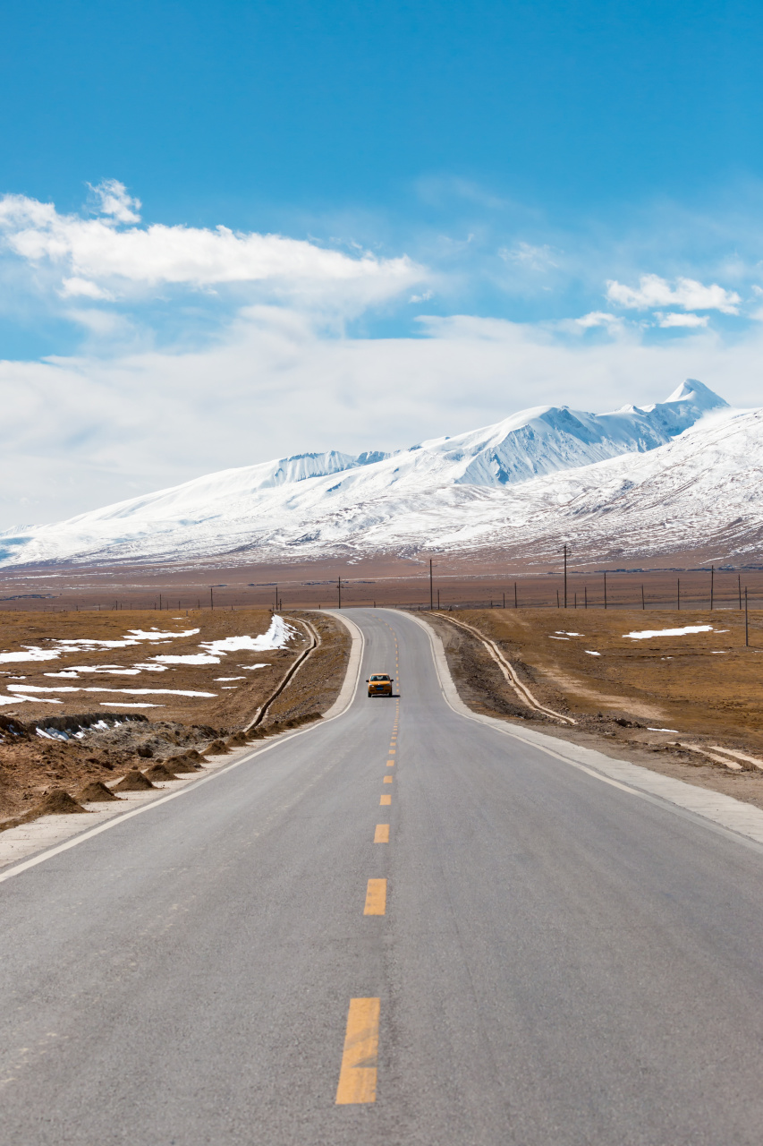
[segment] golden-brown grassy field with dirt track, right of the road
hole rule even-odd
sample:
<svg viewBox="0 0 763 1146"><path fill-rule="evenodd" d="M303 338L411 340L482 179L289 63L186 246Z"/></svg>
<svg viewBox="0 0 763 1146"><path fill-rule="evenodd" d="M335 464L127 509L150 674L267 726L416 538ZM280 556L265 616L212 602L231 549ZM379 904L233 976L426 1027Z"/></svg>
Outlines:
<svg viewBox="0 0 763 1146"><path fill-rule="evenodd" d="M763 808L763 770L744 759L763 761L760 612L745 646L738 611L459 610L456 620L494 641L533 696L574 727L522 704L485 646L446 617L431 621L475 712ZM628 635L685 628L701 631Z"/></svg>

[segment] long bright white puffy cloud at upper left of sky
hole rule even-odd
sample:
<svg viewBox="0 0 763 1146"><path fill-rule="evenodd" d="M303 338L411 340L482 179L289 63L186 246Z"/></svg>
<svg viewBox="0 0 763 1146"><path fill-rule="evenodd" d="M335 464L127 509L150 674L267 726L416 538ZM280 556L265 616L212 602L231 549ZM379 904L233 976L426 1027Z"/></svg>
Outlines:
<svg viewBox="0 0 763 1146"><path fill-rule="evenodd" d="M360 305L390 298L425 274L408 257L382 259L283 235L233 231L218 226L134 226L140 206L109 180L93 188L97 218L61 214L52 203L23 195L0 197L0 235L7 250L61 275L60 292L105 299L166 284L210 289L267 284L270 290L320 301L339 288ZM129 226L123 226L129 225Z"/></svg>

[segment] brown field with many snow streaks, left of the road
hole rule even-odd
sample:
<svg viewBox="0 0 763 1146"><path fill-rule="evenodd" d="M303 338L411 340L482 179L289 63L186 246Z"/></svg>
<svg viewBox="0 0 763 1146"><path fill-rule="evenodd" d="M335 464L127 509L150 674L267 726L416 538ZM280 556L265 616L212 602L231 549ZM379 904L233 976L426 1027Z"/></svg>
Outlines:
<svg viewBox="0 0 763 1146"><path fill-rule="evenodd" d="M58 700L56 705L31 700L0 708L0 830L17 823L21 817L33 818L55 810L49 800L46 802L50 792L62 790L77 798L88 784L115 786L132 770L150 770L162 762L180 766L188 753L198 758L210 747L226 751L226 745L238 746L247 739L259 739L320 719L341 688L351 644L346 629L329 615L288 614L284 620L293 627L294 634L283 649L221 651L217 664L171 664L165 672L155 674L150 666L163 662L152 661L152 657L196 658L199 652L209 651L200 649L202 643L209 646L229 637L261 637L269 630L270 614L262 610L206 612L188 618L172 618L171 614L167 621L167 614L160 614L157 620L152 612L140 618L131 614L125 621L117 613L101 617L60 613L52 615L48 625L48 618L40 614L24 618L16 613L1 620L6 623L0 628L0 650L24 653L32 646L55 651L57 656L40 661L0 662L5 674L0 677L0 696L11 697L7 689L15 682L42 688L66 686L72 691L40 693ZM317 647L267 707L257 730L244 733L284 674L312 643L305 622L317 633ZM80 645L76 651L65 652L62 651L65 645L58 643L76 638L116 643L131 629L184 633L191 628L200 631L123 647L101 645L97 651ZM255 664L263 667L253 669ZM136 665L149 667L134 673ZM119 675L125 669L129 669L131 675ZM221 685L226 678L230 684L230 677L237 678L235 685L223 691ZM173 691L148 696L113 692L109 691L112 682L118 688L156 685ZM104 691L100 691L102 686ZM80 691L76 691L78 689ZM176 694L183 692L211 694ZM143 711L127 706L120 709L116 704L121 697L127 705L140 704L144 696L149 707ZM110 702L99 706L101 697ZM89 711L84 707L86 704L92 705ZM154 704L156 707L150 707ZM99 707L100 711L93 711ZM184 770L198 767L198 759L191 760ZM62 806L60 810L65 809Z"/></svg>

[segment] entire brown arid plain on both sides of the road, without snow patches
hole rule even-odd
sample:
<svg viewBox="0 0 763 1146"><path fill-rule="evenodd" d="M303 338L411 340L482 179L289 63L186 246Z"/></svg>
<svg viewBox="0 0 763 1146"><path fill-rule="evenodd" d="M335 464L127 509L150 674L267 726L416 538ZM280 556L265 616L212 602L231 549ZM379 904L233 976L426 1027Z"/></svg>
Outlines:
<svg viewBox="0 0 763 1146"><path fill-rule="evenodd" d="M456 683L472 707L534 724L551 736L588 744L763 807L763 770L741 759L763 760L763 568L755 564L732 566L721 559L714 570L690 568L686 556L675 555L669 565L666 562L664 567L652 568L605 570L575 566L571 559L566 610L561 552L548 567L540 563L509 566L501 555L485 555L478 562L434 554L431 582L430 555L422 552L388 559L355 559L347 555L344 559L301 565L206 562L182 567L5 570L0 574L0 645L9 650L62 636L113 637L132 628L200 628L198 635L173 642L173 651L186 653L197 651L199 642L265 631L277 603L284 615L302 615L321 627L324 645L320 657L300 668L269 709L268 722L273 722L286 719L284 713L290 706L300 716L323 712L329 698L336 696L347 654L347 634L325 614L327 607L336 609L341 602L351 615L357 606L422 610L423 617L431 617L438 625ZM748 647L741 607L745 591ZM432 614L430 602L434 605ZM469 620L495 639L537 697L568 713L575 724L561 728L536 712L522 709L485 649L463 631L457 633L448 618ZM646 641L624 637L638 629L694 625L711 625L713 631ZM151 674L149 683L157 686L160 682L176 691L214 693L207 698L145 698L162 705L140 709L148 717L155 740L159 727L164 729L155 756L178 754L187 746L203 745L205 738L227 736L245 727L280 674L299 654L301 639L270 653L228 654L220 665L209 668L171 666L162 676ZM167 651L158 646L155 650ZM89 657L92 666L105 661L119 665L123 660L127 665L150 654L148 646L141 651L78 653L76 662L86 665ZM242 667L254 662L266 662L266 667ZM63 669L66 664L66 658L61 658L54 668ZM45 675L49 668L46 662L6 664L0 684L3 680L10 683L13 676L24 677L17 683L57 683ZM250 680L223 682L219 680L222 676ZM145 685L148 676L137 680ZM111 678L111 683L116 681ZM95 678L94 683L103 682ZM119 683L131 686L127 677ZM63 704L25 702L17 709L17 720L29 722L32 716L54 712L93 712L103 707L101 699L109 698L109 693L55 696ZM7 717L8 707L0 708L0 721ZM121 732L88 733L87 743L100 744L101 755L84 754L74 747L66 755L61 745L38 737L34 752L25 749L26 758L33 755L36 761L29 775L26 766L21 770L17 766L16 780L9 784L7 770L0 771L0 818L18 813L22 795L24 807L29 807L45 791L46 783L65 779L70 787L73 785L63 764L49 764L52 754L62 760L89 760L93 778L103 778L108 763L135 764L137 733L132 728L125 732L125 728L128 725L123 725ZM116 743L119 739L121 747ZM726 753L714 759L717 746L741 753L741 758ZM111 753L111 760L105 752ZM3 753L7 759L8 748L0 745L0 769L6 767ZM84 767L81 761L78 768ZM23 784L22 774L26 776Z"/></svg>

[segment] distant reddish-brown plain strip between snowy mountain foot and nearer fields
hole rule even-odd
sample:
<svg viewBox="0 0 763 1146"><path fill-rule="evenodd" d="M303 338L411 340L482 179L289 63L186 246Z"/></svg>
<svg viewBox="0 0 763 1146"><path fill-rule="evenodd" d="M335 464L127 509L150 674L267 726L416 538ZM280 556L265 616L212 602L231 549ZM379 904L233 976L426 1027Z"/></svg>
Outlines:
<svg viewBox="0 0 763 1146"><path fill-rule="evenodd" d="M638 607L642 590L647 611L706 609L713 587L716 606L739 605L748 590L750 607L763 607L763 564L718 558L692 567L693 555L677 554L660 562L632 558L583 563L569 557L568 603L603 607L605 580L611 607ZM222 609L284 610L393 605L428 609L430 559L432 597L442 607L513 604L520 609L556 607L564 603L563 551L548 562L508 562L505 555L451 556L418 551L409 556L359 557L353 552L313 562L229 564L221 558L175 565L40 566L0 570L0 613L19 611L112 610L156 612ZM628 568L620 567L628 564Z"/></svg>

